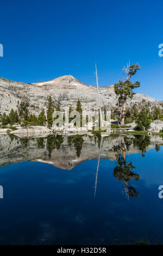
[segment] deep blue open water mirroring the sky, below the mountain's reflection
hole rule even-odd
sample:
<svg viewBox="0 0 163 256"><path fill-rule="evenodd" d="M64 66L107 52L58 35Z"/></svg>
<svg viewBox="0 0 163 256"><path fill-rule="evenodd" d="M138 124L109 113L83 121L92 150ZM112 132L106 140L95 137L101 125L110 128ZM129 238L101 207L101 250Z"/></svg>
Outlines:
<svg viewBox="0 0 163 256"><path fill-rule="evenodd" d="M163 147L127 156L139 180L128 196L113 175L117 161L87 160L72 170L24 161L0 168L0 243L11 245L106 245L163 242ZM122 192L123 191L123 192Z"/></svg>

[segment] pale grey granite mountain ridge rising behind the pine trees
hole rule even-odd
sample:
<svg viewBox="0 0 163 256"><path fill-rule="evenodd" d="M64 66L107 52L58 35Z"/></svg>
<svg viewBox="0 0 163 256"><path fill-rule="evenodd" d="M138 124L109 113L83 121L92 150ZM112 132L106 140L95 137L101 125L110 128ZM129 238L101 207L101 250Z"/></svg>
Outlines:
<svg viewBox="0 0 163 256"><path fill-rule="evenodd" d="M107 110L115 108L117 96L114 86L99 87L101 103ZM92 111L98 109L97 88L87 86L71 75L61 76L51 81L25 84L7 80L0 77L0 112L9 113L11 108L17 109L21 101L29 102L30 113L39 114L45 107L48 96L52 97L55 105L61 108L65 106L76 107L78 99L82 102L83 110ZM133 99L127 101L127 106L137 105L145 100L149 106L159 105L160 102L148 95L136 93Z"/></svg>

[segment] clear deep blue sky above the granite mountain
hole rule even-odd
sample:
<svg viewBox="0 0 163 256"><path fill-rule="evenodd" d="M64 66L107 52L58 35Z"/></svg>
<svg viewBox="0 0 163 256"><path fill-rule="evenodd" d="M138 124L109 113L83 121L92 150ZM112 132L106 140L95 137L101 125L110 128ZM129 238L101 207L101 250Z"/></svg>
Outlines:
<svg viewBox="0 0 163 256"><path fill-rule="evenodd" d="M1 1L0 76L25 83L73 75L109 86L124 77L122 68L139 63L136 92L163 100L163 2Z"/></svg>

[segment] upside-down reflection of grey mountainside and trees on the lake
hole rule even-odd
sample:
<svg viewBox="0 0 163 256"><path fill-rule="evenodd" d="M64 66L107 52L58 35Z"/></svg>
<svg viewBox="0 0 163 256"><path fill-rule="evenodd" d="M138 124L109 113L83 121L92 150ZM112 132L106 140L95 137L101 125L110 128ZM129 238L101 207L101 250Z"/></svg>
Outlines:
<svg viewBox="0 0 163 256"><path fill-rule="evenodd" d="M127 198L137 197L139 192L130 185L130 180L139 180L133 162L126 160L126 155L140 153L145 157L147 150L160 150L161 137L110 135L102 137L100 133L90 135L49 135L47 137L26 138L14 135L0 136L0 165L22 161L35 161L52 164L61 169L71 170L78 164L98 159L95 196L100 159L116 160L113 175L122 181Z"/></svg>

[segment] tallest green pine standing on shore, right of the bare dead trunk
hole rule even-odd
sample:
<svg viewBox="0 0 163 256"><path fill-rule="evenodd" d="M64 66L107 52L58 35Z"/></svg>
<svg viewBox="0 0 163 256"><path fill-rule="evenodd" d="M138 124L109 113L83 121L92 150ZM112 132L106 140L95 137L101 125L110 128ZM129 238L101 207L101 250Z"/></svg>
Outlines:
<svg viewBox="0 0 163 256"><path fill-rule="evenodd" d="M128 65L127 68L124 68L123 71L126 74L126 80L119 80L118 83L114 85L115 93L119 96L118 101L120 106L122 106L121 111L121 125L124 125L125 115L126 115L126 102L128 98L133 98L134 93L133 89L140 87L140 82L132 83L130 78L136 74L136 72L140 70L139 64L136 65Z"/></svg>

